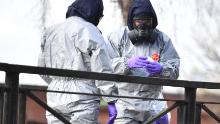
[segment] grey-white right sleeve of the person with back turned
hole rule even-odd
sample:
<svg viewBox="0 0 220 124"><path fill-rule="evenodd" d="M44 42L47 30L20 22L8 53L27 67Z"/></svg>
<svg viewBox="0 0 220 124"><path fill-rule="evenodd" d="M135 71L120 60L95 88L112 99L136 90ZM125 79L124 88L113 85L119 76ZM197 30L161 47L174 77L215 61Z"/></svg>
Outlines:
<svg viewBox="0 0 220 124"><path fill-rule="evenodd" d="M88 30L88 52L91 55L91 71L100 73L112 73L110 57L105 41L98 30ZM114 81L96 80L96 86L103 95L117 95ZM106 102L117 100L115 97L103 97Z"/></svg>

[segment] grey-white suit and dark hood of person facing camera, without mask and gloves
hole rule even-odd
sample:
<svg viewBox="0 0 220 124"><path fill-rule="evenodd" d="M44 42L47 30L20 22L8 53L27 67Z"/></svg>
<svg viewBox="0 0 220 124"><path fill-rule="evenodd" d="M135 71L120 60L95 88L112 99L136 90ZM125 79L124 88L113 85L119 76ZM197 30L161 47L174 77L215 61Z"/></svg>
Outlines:
<svg viewBox="0 0 220 124"><path fill-rule="evenodd" d="M128 32L134 29L133 17L140 13L153 15L154 37L149 41L142 41L134 45L128 37ZM172 45L171 39L155 28L157 17L150 1L134 0L129 9L127 25L128 28L119 29L107 37L114 73L148 77L150 75L146 68L128 68L127 60L135 56L151 57L156 53L159 55L158 62L162 65L163 70L160 74L154 76L177 79L180 64L179 56ZM119 95L163 98L162 86L131 83L118 83L117 86ZM166 107L164 101L119 98L116 102L118 114L115 123L140 124L166 109Z"/></svg>

